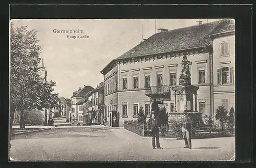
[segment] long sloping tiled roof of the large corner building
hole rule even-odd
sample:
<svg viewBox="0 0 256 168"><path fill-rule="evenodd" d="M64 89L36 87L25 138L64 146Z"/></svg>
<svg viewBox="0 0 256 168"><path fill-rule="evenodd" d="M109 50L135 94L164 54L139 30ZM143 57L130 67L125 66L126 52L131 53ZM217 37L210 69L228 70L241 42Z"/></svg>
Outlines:
<svg viewBox="0 0 256 168"><path fill-rule="evenodd" d="M233 29L229 24L230 20L224 19L157 33L115 60L202 47L211 43L209 35L213 32Z"/></svg>

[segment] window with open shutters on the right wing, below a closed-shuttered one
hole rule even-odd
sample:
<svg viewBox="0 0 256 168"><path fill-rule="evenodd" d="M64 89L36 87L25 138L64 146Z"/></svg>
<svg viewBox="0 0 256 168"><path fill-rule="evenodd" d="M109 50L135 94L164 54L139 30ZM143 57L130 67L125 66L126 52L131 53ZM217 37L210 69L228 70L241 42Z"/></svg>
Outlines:
<svg viewBox="0 0 256 168"><path fill-rule="evenodd" d="M233 83L233 68L221 67L217 69L217 83L219 85Z"/></svg>

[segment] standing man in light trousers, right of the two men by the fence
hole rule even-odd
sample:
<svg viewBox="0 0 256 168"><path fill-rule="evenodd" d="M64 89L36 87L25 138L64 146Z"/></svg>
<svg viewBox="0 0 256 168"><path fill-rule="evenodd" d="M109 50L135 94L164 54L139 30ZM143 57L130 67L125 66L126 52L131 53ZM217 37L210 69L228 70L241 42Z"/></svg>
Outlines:
<svg viewBox="0 0 256 168"><path fill-rule="evenodd" d="M184 110L184 116L181 120L182 124L182 134L185 141L185 147L191 149L191 125L192 125L192 119L188 115L187 111Z"/></svg>

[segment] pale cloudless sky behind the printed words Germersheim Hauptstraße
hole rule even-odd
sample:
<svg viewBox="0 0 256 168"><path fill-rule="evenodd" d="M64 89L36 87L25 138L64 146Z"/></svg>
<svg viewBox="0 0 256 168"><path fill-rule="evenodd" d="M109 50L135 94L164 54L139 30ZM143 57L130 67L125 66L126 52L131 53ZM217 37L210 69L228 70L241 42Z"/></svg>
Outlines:
<svg viewBox="0 0 256 168"><path fill-rule="evenodd" d="M47 80L56 82L54 92L70 98L84 85L96 88L103 81L100 71L109 62L132 49L157 29L179 29L196 25L198 19L16 19L14 27L28 25L37 31L43 47ZM202 23L220 19L200 19ZM155 24L156 23L156 24ZM143 26L142 26L143 25ZM82 30L83 33L54 33L54 30ZM89 36L84 39L67 35ZM40 63L41 65L41 63Z"/></svg>

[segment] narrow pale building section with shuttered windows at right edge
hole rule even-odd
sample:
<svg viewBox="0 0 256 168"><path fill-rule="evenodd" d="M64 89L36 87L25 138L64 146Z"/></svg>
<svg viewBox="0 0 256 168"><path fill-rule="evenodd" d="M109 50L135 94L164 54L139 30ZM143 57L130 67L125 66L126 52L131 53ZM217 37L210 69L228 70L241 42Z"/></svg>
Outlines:
<svg viewBox="0 0 256 168"><path fill-rule="evenodd" d="M224 105L229 111L235 108L235 30L234 22L223 26L222 30L216 30L210 35L213 52L213 89L214 89L214 113L216 109Z"/></svg>

